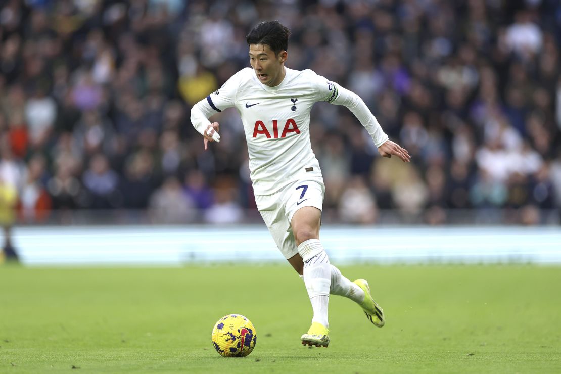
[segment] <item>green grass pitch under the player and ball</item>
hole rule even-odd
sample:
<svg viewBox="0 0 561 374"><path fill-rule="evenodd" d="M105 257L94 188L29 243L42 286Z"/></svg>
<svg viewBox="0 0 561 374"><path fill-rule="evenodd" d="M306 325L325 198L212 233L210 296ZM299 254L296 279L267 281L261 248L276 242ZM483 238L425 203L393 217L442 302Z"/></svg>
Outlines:
<svg viewBox="0 0 561 374"><path fill-rule="evenodd" d="M341 270L370 281L387 324L332 297L329 348L310 349L299 338L311 307L288 264L0 266L0 372L561 372L558 267ZM210 343L228 313L256 327L246 358L222 358Z"/></svg>

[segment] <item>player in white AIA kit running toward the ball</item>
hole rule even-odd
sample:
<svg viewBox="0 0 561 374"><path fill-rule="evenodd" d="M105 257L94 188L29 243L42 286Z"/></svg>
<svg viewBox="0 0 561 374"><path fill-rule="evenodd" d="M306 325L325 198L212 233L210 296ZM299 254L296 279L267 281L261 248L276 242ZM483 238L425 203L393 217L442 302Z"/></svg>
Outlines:
<svg viewBox="0 0 561 374"><path fill-rule="evenodd" d="M314 316L302 344L329 344L329 294L358 303L375 326L384 313L374 302L366 280L351 282L319 241L325 193L318 160L310 145L310 110L316 101L344 105L372 137L384 157L410 161L407 150L388 140L374 115L358 95L311 70L284 66L290 30L278 21L261 22L246 37L251 68L234 74L219 90L191 110L191 122L204 137L204 147L219 141L218 122L209 117L230 107L240 113L257 209L275 243L304 279ZM357 133L356 136L361 136Z"/></svg>

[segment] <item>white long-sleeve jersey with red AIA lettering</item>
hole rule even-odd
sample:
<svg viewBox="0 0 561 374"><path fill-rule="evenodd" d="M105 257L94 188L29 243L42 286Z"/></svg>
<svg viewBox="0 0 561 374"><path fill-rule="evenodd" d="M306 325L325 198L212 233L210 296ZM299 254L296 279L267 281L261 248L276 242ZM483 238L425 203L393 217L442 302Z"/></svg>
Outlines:
<svg viewBox="0 0 561 374"><path fill-rule="evenodd" d="M388 140L364 101L309 69L286 69L276 87L261 84L247 67L191 109L191 123L201 135L213 114L236 107L249 151L256 195L271 195L298 179L321 178L310 145L310 110L316 101L344 105L370 133L376 146Z"/></svg>

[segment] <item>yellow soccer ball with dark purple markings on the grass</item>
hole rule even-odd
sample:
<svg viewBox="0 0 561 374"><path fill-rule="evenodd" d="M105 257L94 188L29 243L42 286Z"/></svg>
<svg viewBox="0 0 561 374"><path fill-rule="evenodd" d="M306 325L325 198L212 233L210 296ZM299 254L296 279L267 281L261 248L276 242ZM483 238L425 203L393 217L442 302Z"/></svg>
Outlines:
<svg viewBox="0 0 561 374"><path fill-rule="evenodd" d="M255 327L238 314L220 318L212 329L212 344L223 357L246 357L255 348L256 341Z"/></svg>

